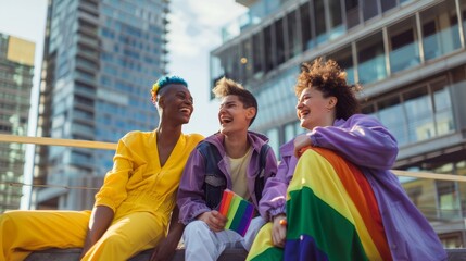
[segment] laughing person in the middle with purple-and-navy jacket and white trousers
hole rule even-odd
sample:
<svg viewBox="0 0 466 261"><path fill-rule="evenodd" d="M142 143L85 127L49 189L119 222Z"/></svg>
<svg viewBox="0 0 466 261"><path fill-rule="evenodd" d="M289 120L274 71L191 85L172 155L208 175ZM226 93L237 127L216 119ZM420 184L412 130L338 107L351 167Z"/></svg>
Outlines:
<svg viewBox="0 0 466 261"><path fill-rule="evenodd" d="M186 260L217 260L226 248L249 250L265 220L254 217L244 237L225 229L227 217L218 212L223 191L230 189L259 209L264 184L277 172L268 138L249 130L257 114L254 96L225 77L213 92L222 98L221 129L191 152L178 189Z"/></svg>

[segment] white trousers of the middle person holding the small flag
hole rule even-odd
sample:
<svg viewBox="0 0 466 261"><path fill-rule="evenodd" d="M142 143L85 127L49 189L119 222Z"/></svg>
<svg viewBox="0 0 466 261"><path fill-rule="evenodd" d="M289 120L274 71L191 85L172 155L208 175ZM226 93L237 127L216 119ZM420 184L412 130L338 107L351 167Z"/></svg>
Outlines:
<svg viewBox="0 0 466 261"><path fill-rule="evenodd" d="M225 229L222 232L212 232L203 221L193 221L185 227L182 240L185 241L185 260L215 261L227 248L244 248L247 251L251 248L255 235L265 224L261 216L254 217L249 228L242 237L238 233Z"/></svg>

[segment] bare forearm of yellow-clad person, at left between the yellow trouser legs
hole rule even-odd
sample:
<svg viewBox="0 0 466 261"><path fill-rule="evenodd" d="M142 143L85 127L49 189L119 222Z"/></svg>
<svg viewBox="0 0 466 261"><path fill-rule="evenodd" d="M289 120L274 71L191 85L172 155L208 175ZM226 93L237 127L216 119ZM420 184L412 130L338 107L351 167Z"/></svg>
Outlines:
<svg viewBox="0 0 466 261"><path fill-rule="evenodd" d="M113 221L113 210L106 206L98 206L90 215L89 228L79 259L102 237Z"/></svg>

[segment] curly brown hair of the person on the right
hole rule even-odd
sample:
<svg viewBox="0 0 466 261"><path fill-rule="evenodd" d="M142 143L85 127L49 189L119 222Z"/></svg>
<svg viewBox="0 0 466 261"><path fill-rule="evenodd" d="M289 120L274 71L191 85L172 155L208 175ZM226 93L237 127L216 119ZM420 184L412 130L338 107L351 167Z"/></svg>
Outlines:
<svg viewBox="0 0 466 261"><path fill-rule="evenodd" d="M337 119L347 120L351 115L361 112L361 105L356 92L360 85L348 85L347 73L340 69L333 60L324 62L322 58L314 60L312 64L303 63L298 83L294 86L297 97L306 88L315 88L323 92L324 97L337 98Z"/></svg>

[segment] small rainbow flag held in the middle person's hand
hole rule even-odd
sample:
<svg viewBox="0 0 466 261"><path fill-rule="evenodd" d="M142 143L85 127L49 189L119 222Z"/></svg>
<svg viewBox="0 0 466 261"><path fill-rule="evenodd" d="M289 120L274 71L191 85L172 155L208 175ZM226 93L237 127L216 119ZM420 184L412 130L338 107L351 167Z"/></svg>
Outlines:
<svg viewBox="0 0 466 261"><path fill-rule="evenodd" d="M228 221L226 229L231 229L244 236L254 214L254 206L229 189L224 190L219 212Z"/></svg>

